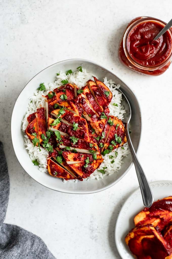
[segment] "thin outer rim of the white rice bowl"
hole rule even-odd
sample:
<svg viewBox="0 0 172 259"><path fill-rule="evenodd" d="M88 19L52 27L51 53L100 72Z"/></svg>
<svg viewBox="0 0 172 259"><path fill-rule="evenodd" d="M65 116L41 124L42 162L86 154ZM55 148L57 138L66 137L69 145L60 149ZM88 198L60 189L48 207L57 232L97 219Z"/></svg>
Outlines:
<svg viewBox="0 0 172 259"><path fill-rule="evenodd" d="M98 66L99 68L101 68L101 69L103 69L103 70L106 70L108 73L113 74L114 76L116 76L112 71L106 69L105 67L103 67L103 66L101 66L100 64L98 64L98 63L96 63L96 62L94 62L94 61L91 61L91 60L87 60L87 59L66 59L66 60L58 61L58 62L56 62L56 63L54 63L54 64L51 64L50 66L48 66L48 67L42 69L41 71L39 71L35 76L33 76L33 77L27 82L27 84L26 84L26 85L24 86L24 88L20 91L20 93L19 93L17 99L15 100L15 103L14 103L14 106L13 106L13 109L12 109L12 114L11 114L11 127L10 127L10 129L11 129L11 141L12 141L12 146L13 146L14 154L15 154L15 156L16 156L16 158L17 158L19 164L20 164L20 166L21 166L22 169L23 169L32 179L34 179L37 183L39 183L39 184L41 184L42 186L44 186L44 187L46 187L46 188L49 188L49 189L51 189L51 190L54 190L54 189L51 188L50 186L48 186L46 183L45 183L45 184L42 184L42 183L40 183L39 181L37 181L37 180L36 180L34 177L32 177L32 176L24 169L24 167L21 165L21 163L20 163L20 158L18 157L18 155L17 155L16 152L15 152L15 146L14 146L14 142L13 142L12 119L13 119L13 115L14 115L14 111L15 111L15 106L16 106L16 104L17 104L17 100L19 99L19 97L20 97L22 91L25 89L25 87L28 85L28 83L29 83L34 77L36 77L38 74L40 74L42 71L46 70L47 68L49 68L49 67L51 67L51 66L54 66L54 65L56 65L56 64L58 64L58 63L68 62L68 61L89 62L89 63L91 63L91 64L93 64L93 65L95 65L95 66ZM137 98L136 94L131 90L131 88L128 86L128 84L126 84L126 83L125 83L123 80L121 80L118 76L116 76L116 77L130 89L130 91L132 92L132 94L135 96L136 101L137 101L137 104L138 104L139 113L140 113L140 138L139 138L138 147L137 147L137 150L136 150L136 154L137 154L137 152L138 152L138 150L139 150L139 147L140 147L140 140L141 140L141 138L142 138L142 112L141 112L140 104L139 104L139 101L138 101L138 98ZM118 179L116 179L116 180L115 180L114 182L112 182L111 184L108 184L107 186L104 186L104 187L102 187L102 188L100 188L100 189L98 189L98 190L93 190L93 191L83 191L83 190L82 190L82 192L81 192L81 191L78 191L78 192L77 192L77 190L54 190L54 191L59 191L59 192L63 192L63 193L71 193L71 194L91 194L91 193L101 192L101 191L104 191L104 190L106 190L106 189L112 187L112 186L115 185L116 183L118 183L118 182L127 174L127 172L131 169L132 166L133 166L133 161L131 161L131 163L129 164L128 168L123 172L123 174L122 174Z"/></svg>

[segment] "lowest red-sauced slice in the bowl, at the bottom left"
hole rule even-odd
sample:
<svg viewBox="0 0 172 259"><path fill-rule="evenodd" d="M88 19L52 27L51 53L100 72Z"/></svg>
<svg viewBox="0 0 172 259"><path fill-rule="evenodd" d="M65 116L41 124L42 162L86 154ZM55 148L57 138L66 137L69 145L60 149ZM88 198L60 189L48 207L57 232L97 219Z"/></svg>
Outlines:
<svg viewBox="0 0 172 259"><path fill-rule="evenodd" d="M47 161L47 168L50 175L58 178L63 178L66 181L75 179L68 171L66 171L62 166L54 162L51 158Z"/></svg>

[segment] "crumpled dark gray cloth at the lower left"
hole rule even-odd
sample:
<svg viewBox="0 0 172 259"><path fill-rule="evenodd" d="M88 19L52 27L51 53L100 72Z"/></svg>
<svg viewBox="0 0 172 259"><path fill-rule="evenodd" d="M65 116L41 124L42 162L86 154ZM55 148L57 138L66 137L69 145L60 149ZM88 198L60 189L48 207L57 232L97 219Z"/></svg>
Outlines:
<svg viewBox="0 0 172 259"><path fill-rule="evenodd" d="M55 259L41 238L21 227L3 223L10 182L2 142L0 158L0 259Z"/></svg>

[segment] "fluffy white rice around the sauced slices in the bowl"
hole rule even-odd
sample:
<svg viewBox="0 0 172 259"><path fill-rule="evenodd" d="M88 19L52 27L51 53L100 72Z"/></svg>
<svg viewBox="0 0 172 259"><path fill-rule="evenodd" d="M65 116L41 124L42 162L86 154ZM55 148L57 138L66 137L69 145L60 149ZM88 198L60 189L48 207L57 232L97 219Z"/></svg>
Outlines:
<svg viewBox="0 0 172 259"><path fill-rule="evenodd" d="M28 104L28 108L26 111L26 115L22 121L22 131L24 132L28 125L27 117L29 116L29 114L36 112L36 110L40 107L45 108L45 98L43 97L43 95L47 95L49 91L53 91L54 88L61 86L61 80L67 79L69 83L72 83L72 84L75 83L81 89L81 87L86 85L86 82L88 80L90 80L90 79L94 80L93 76L96 76L96 75L93 75L92 73L87 73L87 71L83 68L82 68L82 72L75 71L73 74L69 74L67 76L66 76L66 73L60 71L59 75L56 77L57 79L55 82L49 83L49 84L44 83L44 85L46 87L46 91L36 90L34 92L34 95L29 98L29 104ZM111 92L113 94L112 101L108 106L110 109L110 114L123 120L123 118L124 118L123 114L126 113L126 111L125 111L124 107L121 105L122 94L118 91L118 88L120 87L120 85L119 84L115 85L115 82L113 82L111 79L107 80L106 77L104 78L104 83L111 90ZM35 86L35 88L38 88L38 86ZM117 103L118 106L114 106L113 103ZM34 147L33 143L30 142L27 135L24 136L24 145L26 146L26 149L28 150L30 159L38 161L39 170L41 172L47 172L46 166L47 166L47 157L48 157L49 152L45 148L40 147L40 149L41 149L41 151L40 151L38 147L36 147L36 146ZM119 148L113 150L111 153L103 156L103 158L104 158L103 163L86 180L90 180L90 179L98 180L99 178L103 178L106 175L114 174L116 171L120 170L121 164L123 163L122 162L123 157L127 156L129 153L128 144L125 143L123 145L123 147L124 147L124 149L119 147ZM118 152L118 156L115 155L115 151ZM110 155L113 156L112 159L109 158ZM111 163L113 160L114 160L114 162ZM107 168L105 168L105 167L107 167ZM103 168L105 168L104 169L105 174L102 174L101 172L98 171ZM69 181L73 181L73 180L69 180Z"/></svg>

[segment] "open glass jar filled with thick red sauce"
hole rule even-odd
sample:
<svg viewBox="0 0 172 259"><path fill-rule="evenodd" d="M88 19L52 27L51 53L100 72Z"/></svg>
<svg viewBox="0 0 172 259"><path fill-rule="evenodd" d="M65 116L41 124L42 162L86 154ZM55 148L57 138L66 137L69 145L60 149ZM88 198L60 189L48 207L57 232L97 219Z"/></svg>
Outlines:
<svg viewBox="0 0 172 259"><path fill-rule="evenodd" d="M133 19L120 42L120 61L141 74L157 76L164 73L172 60L172 29L158 40L153 39L165 25L165 22L152 17Z"/></svg>

